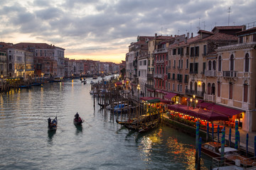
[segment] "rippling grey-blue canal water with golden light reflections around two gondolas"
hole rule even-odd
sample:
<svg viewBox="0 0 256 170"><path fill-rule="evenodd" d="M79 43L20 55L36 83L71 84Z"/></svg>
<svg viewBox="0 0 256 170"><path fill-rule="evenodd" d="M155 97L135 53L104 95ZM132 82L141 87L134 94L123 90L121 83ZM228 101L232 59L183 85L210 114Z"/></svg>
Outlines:
<svg viewBox="0 0 256 170"><path fill-rule="evenodd" d="M110 77L107 77L110 78ZM162 126L146 134L107 119L79 79L0 96L0 169L195 169L195 138ZM75 113L85 119L73 125ZM47 119L58 116L58 130ZM203 155L201 169L211 159Z"/></svg>

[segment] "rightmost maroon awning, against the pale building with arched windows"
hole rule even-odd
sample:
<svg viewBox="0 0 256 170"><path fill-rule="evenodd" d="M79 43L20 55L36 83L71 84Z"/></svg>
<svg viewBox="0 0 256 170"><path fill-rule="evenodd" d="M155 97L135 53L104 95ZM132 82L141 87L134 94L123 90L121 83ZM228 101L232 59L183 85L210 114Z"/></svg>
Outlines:
<svg viewBox="0 0 256 170"><path fill-rule="evenodd" d="M218 104L215 104L213 106L208 106L206 109L208 109L209 111L213 111L215 113L228 115L229 118L232 118L233 115L237 115L241 112L244 112L242 110L238 110L238 109L235 109L235 108L228 108L226 106L220 106Z"/></svg>

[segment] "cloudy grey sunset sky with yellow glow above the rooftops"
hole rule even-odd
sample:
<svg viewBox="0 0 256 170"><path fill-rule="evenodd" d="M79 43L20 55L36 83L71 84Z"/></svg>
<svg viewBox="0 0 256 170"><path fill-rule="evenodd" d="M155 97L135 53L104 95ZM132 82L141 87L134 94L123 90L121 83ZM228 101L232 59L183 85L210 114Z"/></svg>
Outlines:
<svg viewBox="0 0 256 170"><path fill-rule="evenodd" d="M245 25L256 21L255 6L255 0L1 0L0 41L46 42L65 48L70 59L119 63L138 35Z"/></svg>

